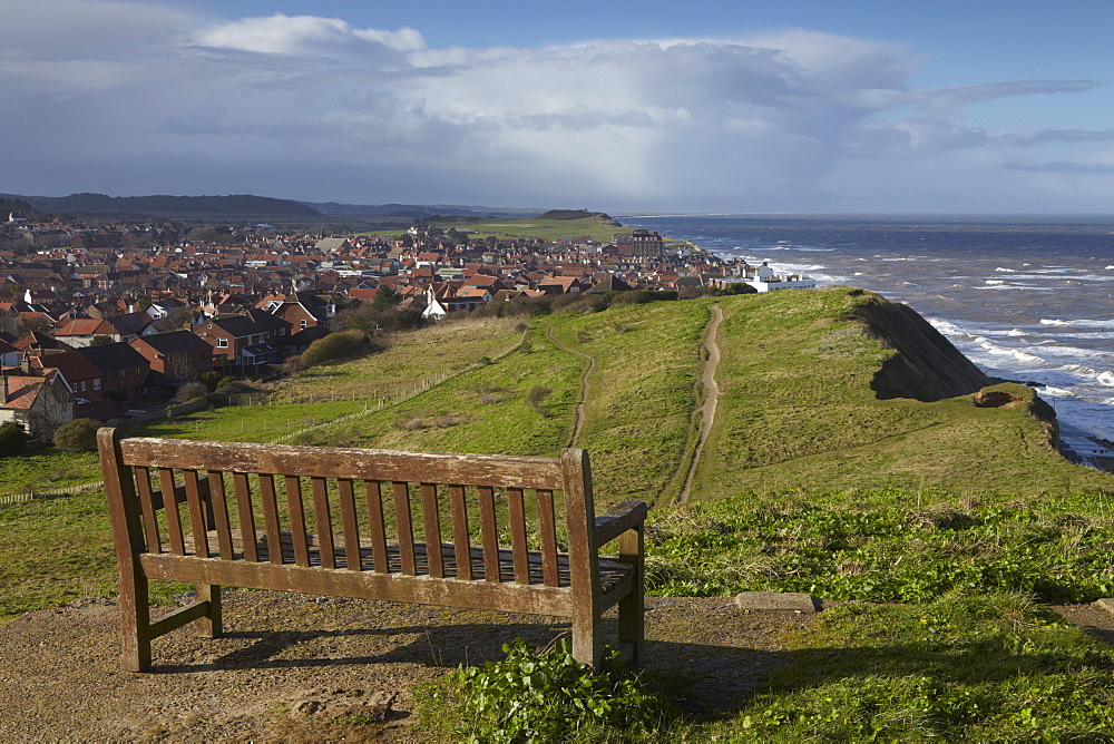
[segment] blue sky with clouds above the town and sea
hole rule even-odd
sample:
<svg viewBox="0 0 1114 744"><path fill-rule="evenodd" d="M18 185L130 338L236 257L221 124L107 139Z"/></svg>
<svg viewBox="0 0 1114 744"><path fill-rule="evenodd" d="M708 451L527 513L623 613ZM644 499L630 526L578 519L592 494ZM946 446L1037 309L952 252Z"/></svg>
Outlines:
<svg viewBox="0 0 1114 744"><path fill-rule="evenodd" d="M1114 213L1108 0L0 0L0 192Z"/></svg>

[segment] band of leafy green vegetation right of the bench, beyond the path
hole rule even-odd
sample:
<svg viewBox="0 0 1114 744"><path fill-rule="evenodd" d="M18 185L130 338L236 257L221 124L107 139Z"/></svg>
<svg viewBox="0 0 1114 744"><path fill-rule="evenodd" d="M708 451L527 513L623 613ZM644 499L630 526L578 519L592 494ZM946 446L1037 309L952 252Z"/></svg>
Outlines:
<svg viewBox="0 0 1114 744"><path fill-rule="evenodd" d="M924 603L952 591L1044 601L1114 596L1110 496L979 505L948 493L740 495L658 509L647 536L654 594L804 591Z"/></svg>

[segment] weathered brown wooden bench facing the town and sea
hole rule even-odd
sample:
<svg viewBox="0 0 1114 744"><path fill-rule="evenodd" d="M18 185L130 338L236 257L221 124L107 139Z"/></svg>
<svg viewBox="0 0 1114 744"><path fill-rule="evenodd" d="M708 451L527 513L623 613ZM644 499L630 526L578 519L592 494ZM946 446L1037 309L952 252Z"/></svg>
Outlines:
<svg viewBox="0 0 1114 744"><path fill-rule="evenodd" d="M125 439L107 428L98 443L126 669L149 668L152 639L187 623L219 636L222 586L569 617L573 654L593 666L600 615L618 605L620 649L639 662L647 507L625 501L595 517L584 450L433 454ZM615 539L618 555L602 557ZM153 623L152 579L195 584L196 600Z"/></svg>

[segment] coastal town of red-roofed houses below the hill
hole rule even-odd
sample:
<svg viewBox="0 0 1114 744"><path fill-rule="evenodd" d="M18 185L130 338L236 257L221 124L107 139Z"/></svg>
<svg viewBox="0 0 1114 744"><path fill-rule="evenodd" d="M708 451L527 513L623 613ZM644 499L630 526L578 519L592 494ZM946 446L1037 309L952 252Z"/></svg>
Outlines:
<svg viewBox="0 0 1114 744"><path fill-rule="evenodd" d="M275 376L367 305L422 323L540 297L815 286L620 226L607 243L422 222L362 235L216 226L207 239L167 223L13 213L0 227L0 424L33 437L178 401L214 373Z"/></svg>

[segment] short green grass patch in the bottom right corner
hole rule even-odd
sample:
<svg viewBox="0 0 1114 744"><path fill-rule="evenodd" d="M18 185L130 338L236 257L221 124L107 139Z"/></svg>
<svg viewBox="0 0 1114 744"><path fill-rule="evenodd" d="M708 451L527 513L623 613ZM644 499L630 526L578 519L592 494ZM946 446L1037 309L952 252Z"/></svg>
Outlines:
<svg viewBox="0 0 1114 744"><path fill-rule="evenodd" d="M847 605L731 721L736 741L1110 741L1110 646L1018 595Z"/></svg>

